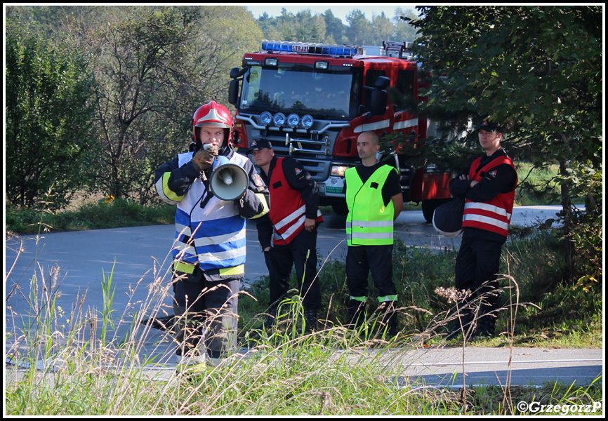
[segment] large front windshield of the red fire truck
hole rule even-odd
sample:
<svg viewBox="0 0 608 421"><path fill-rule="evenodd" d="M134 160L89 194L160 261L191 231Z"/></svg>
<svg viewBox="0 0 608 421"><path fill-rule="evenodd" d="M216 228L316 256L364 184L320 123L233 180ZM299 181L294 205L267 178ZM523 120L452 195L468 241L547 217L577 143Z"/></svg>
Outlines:
<svg viewBox="0 0 608 421"><path fill-rule="evenodd" d="M240 109L311 114L350 120L357 116L361 77L353 72L317 72L312 68L253 65L243 81Z"/></svg>

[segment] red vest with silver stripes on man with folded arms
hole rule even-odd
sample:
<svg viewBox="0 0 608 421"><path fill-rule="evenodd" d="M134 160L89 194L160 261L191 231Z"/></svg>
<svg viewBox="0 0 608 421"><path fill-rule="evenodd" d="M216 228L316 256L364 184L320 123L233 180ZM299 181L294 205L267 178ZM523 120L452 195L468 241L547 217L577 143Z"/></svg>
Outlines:
<svg viewBox="0 0 608 421"><path fill-rule="evenodd" d="M503 163L508 163L515 169L513 161L511 161L508 156L499 156L477 171L480 162L481 157L475 159L471 164L469 171L469 178L471 180L481 181L482 173L487 173L492 168ZM517 185L517 178L515 179L515 185ZM465 210L463 213L463 228L472 227L485 229L506 237L511 222L511 215L513 214L514 201L515 188L513 188L511 192L498 194L494 199L487 202L475 202L467 199L465 201Z"/></svg>

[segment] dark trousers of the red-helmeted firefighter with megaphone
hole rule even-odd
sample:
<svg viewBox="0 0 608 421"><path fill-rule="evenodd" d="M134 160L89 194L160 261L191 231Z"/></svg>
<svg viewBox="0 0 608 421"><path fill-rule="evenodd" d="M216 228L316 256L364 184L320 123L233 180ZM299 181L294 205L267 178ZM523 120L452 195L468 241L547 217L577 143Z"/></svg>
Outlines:
<svg viewBox="0 0 608 421"><path fill-rule="evenodd" d="M240 278L206 281L197 266L194 273L173 273L173 311L177 320L178 349L206 348L213 358L237 347Z"/></svg>

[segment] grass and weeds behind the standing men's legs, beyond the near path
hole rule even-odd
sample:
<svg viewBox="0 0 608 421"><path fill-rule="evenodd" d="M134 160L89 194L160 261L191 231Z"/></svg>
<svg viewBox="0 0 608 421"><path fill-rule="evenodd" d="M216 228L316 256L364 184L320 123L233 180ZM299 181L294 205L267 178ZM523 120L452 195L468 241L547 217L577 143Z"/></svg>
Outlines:
<svg viewBox="0 0 608 421"><path fill-rule="evenodd" d="M574 289L565 278L560 241L555 232L514 238L503 250L501 264L501 311L497 315L498 337L477 340L475 346L524 347L602 347L601 288ZM404 335L424 338L428 345L442 343L449 328L455 326L456 307L442 290L454 283L456 250L435 253L425 248L408 247L397 242L393 255L393 281L397 286L399 330ZM319 257L319 262L323 260ZM543 262L543 265L538 265ZM319 314L329 326L341 326L348 319L346 306L345 263L327 260L319 272L322 309ZM243 330L259 326L267 311L268 280L262 276L250 282L239 301ZM296 279L291 280L296 285ZM375 297L374 282L369 281L370 297ZM294 290L294 293L297 291ZM515 302L515 293L518 295ZM297 300L297 295L293 296ZM370 301L370 312L376 309ZM517 321L513 313L517 310ZM261 316L260 316L261 315ZM514 324L513 324L514 323ZM452 340L448 345L458 346Z"/></svg>

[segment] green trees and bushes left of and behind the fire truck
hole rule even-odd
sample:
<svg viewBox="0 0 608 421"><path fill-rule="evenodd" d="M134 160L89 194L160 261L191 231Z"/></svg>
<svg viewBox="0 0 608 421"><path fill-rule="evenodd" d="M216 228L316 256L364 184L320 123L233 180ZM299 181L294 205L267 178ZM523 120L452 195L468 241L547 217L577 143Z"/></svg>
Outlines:
<svg viewBox="0 0 608 421"><path fill-rule="evenodd" d="M262 39L412 40L401 15L415 16L399 7L371 20L353 8L342 22L330 8L256 20L243 6L7 6L8 203L61 209L78 189L155 203L154 169L187 147L194 109L227 105L244 52Z"/></svg>

